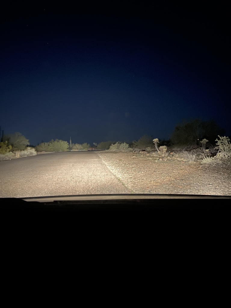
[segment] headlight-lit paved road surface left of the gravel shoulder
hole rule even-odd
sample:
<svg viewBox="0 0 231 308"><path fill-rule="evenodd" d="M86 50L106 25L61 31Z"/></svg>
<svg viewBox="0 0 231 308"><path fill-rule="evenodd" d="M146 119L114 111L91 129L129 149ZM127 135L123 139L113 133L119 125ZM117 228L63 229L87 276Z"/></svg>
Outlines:
<svg viewBox="0 0 231 308"><path fill-rule="evenodd" d="M0 161L0 197L131 193L94 152Z"/></svg>

